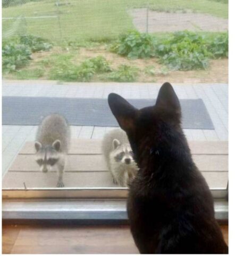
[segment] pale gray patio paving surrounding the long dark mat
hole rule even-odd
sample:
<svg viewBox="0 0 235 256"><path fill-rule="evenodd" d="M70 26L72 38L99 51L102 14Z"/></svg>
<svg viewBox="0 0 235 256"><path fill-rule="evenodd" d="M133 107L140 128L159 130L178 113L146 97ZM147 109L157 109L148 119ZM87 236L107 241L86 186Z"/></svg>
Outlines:
<svg viewBox="0 0 235 256"><path fill-rule="evenodd" d="M3 81L2 95L27 97L107 98L110 92L125 98L153 99L156 83L64 83L53 81ZM203 99L215 130L184 130L188 140L228 141L228 84L173 84L180 99ZM72 138L102 139L112 127L72 126ZM35 139L37 126L3 125L2 170L4 175L26 141Z"/></svg>

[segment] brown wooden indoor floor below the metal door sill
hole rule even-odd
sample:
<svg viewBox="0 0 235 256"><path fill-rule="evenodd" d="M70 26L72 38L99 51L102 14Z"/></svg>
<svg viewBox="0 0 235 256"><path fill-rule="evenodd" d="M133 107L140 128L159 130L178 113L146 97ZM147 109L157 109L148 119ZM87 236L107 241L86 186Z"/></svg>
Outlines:
<svg viewBox="0 0 235 256"><path fill-rule="evenodd" d="M228 226L221 226L228 244ZM138 253L128 226L3 225L2 253Z"/></svg>

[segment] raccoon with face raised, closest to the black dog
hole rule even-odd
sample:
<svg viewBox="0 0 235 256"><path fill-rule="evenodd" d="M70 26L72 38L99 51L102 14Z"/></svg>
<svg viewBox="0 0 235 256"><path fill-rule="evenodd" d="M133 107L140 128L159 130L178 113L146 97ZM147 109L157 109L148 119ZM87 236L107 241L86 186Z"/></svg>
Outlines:
<svg viewBox="0 0 235 256"><path fill-rule="evenodd" d="M122 187L129 186L138 167L125 132L121 129L108 132L103 139L102 150L113 182Z"/></svg>

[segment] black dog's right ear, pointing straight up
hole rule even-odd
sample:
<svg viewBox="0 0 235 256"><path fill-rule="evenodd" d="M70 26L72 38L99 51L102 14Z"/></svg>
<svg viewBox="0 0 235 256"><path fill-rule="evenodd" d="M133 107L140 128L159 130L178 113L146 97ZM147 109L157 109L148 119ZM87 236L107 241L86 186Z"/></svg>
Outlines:
<svg viewBox="0 0 235 256"><path fill-rule="evenodd" d="M170 83L164 83L158 93L156 107L181 117L180 101Z"/></svg>

